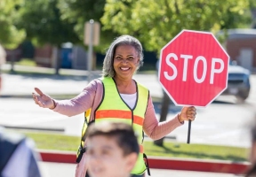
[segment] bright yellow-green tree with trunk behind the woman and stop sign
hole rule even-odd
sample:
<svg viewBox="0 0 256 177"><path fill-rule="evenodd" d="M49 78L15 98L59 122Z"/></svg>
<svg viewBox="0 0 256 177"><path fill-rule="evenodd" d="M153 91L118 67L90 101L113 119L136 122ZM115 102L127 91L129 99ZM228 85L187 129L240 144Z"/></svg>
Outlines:
<svg viewBox="0 0 256 177"><path fill-rule="evenodd" d="M249 2L250 1L250 2ZM249 27L253 0L107 0L101 18L104 29L136 36L147 50L158 54L182 29L211 31ZM250 4L251 3L251 4ZM161 119L170 98L164 94ZM157 141L163 145L164 138Z"/></svg>

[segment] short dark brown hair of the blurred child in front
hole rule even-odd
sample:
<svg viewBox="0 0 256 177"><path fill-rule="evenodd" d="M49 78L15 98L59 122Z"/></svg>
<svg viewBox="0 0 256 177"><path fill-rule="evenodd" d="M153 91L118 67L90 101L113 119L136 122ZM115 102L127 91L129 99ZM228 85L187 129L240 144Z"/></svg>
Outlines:
<svg viewBox="0 0 256 177"><path fill-rule="evenodd" d="M104 135L116 138L117 145L124 151L124 156L135 152L139 154L139 143L132 126L125 123L104 121L88 127L86 138Z"/></svg>

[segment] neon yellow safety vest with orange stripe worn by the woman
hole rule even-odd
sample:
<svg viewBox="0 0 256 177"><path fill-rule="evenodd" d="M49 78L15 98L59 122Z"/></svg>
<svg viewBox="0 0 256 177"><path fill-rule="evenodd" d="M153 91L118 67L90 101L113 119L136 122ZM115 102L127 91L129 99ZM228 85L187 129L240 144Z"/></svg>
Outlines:
<svg viewBox="0 0 256 177"><path fill-rule="evenodd" d="M124 100L118 93L116 83L112 78L102 78L104 94L99 108L95 112L95 123L108 120L124 122L132 125L138 142L143 141L143 122L145 112L148 106L148 89L137 83L137 98L133 109L125 104ZM136 165L132 169L132 174L141 174L146 170L143 159L143 146L140 144L140 153Z"/></svg>

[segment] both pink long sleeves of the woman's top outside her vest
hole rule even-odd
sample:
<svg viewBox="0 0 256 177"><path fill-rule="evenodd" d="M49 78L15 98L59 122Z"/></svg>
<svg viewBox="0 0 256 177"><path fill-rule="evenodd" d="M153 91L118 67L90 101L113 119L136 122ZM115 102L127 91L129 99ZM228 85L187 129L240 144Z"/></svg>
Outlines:
<svg viewBox="0 0 256 177"><path fill-rule="evenodd" d="M78 96L69 100L54 100L56 102L56 107L53 109L53 111L69 117L83 113L89 108L92 108L92 112L94 112L100 104L102 95L102 82L96 79L91 81ZM90 119L94 119L93 116L94 115L92 113ZM154 105L152 103L152 98L149 96L148 107L143 123L143 130L148 137L153 140L160 139L165 135L170 134L172 130L174 130L176 127L180 127L181 125L182 123L180 123L178 115L173 117L173 119L158 122Z"/></svg>

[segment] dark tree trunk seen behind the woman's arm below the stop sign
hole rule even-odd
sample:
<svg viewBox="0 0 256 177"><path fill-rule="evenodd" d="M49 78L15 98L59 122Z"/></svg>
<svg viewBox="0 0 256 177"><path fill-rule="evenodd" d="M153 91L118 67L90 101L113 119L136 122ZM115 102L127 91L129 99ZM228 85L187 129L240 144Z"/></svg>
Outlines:
<svg viewBox="0 0 256 177"><path fill-rule="evenodd" d="M170 97L165 93L163 90L164 96L162 99L162 105L161 105L161 112L160 112L160 119L159 122L165 121L169 112L169 104L171 103ZM164 137L154 141L154 144L157 146L163 146L164 145Z"/></svg>

